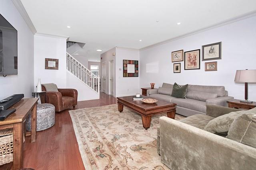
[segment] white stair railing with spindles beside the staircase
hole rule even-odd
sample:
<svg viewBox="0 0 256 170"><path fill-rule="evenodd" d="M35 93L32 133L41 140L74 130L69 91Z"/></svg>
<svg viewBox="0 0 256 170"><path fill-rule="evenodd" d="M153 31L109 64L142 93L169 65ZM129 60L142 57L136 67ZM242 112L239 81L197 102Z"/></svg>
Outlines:
<svg viewBox="0 0 256 170"><path fill-rule="evenodd" d="M96 76L95 74L93 74L88 68L82 65L68 52L66 57L67 71L70 72L70 74L72 74L73 76L76 76L89 88L94 90L94 92L100 94L100 76ZM84 93L84 95L86 95L86 93Z"/></svg>

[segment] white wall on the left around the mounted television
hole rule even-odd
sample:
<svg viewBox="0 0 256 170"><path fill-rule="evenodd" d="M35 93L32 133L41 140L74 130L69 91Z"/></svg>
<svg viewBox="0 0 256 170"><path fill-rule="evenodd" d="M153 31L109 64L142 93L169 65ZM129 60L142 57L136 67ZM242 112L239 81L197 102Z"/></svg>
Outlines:
<svg viewBox="0 0 256 170"><path fill-rule="evenodd" d="M0 76L0 100L12 94L31 97L34 91L34 35L10 0L1 0L0 13L18 31L18 75Z"/></svg>

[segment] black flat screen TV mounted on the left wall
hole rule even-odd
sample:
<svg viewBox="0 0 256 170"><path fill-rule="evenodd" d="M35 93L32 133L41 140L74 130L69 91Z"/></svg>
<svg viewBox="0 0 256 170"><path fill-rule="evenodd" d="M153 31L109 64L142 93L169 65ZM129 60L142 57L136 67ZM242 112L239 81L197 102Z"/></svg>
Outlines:
<svg viewBox="0 0 256 170"><path fill-rule="evenodd" d="M0 14L0 74L18 74L17 30Z"/></svg>

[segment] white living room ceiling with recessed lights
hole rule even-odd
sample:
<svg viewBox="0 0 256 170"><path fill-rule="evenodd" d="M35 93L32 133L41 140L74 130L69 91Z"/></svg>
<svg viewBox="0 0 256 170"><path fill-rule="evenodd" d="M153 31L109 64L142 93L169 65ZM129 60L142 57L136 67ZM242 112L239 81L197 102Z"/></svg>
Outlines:
<svg viewBox="0 0 256 170"><path fill-rule="evenodd" d="M89 61L99 61L101 53L115 46L141 49L256 12L256 0L21 2L39 33L64 35L70 37L70 41L86 43L81 54ZM177 25L178 22L181 24ZM71 28L67 28L68 25Z"/></svg>

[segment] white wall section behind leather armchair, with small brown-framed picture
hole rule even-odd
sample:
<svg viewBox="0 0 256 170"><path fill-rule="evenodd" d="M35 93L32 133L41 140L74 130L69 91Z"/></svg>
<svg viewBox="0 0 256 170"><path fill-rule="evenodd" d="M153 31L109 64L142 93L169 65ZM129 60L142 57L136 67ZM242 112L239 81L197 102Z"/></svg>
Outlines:
<svg viewBox="0 0 256 170"><path fill-rule="evenodd" d="M34 36L34 87L41 78L41 84L55 83L66 88L66 38L43 35ZM45 58L59 59L58 70L46 70Z"/></svg>

